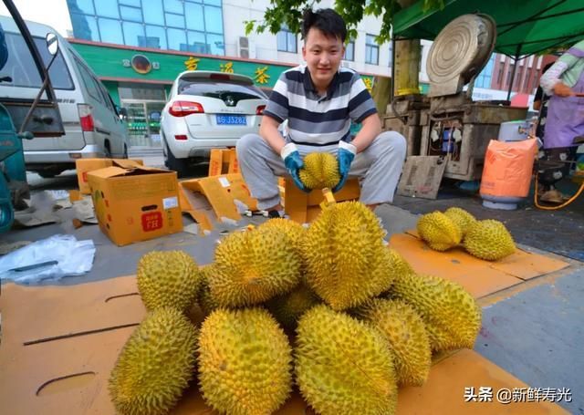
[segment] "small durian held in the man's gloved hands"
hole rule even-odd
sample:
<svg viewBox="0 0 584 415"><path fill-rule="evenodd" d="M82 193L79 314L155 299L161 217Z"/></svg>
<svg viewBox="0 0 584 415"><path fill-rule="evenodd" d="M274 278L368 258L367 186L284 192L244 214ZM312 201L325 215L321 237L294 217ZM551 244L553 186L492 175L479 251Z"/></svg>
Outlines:
<svg viewBox="0 0 584 415"><path fill-rule="evenodd" d="M332 189L340 180L339 161L328 152L312 152L304 158L299 175L308 189Z"/></svg>

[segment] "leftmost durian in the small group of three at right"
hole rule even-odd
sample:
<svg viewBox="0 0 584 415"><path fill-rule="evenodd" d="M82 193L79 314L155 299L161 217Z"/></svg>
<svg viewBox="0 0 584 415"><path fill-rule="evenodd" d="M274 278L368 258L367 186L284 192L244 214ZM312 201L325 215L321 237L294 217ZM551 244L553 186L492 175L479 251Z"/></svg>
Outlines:
<svg viewBox="0 0 584 415"><path fill-rule="evenodd" d="M463 239L458 225L438 211L422 215L417 228L420 237L435 251L446 251L460 244Z"/></svg>

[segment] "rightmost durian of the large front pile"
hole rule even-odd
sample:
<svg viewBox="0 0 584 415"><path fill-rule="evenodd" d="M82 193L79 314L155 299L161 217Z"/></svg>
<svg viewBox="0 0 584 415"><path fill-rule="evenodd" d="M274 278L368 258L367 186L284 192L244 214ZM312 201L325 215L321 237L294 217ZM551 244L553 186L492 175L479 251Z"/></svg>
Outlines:
<svg viewBox="0 0 584 415"><path fill-rule="evenodd" d="M481 307L462 285L410 274L395 280L390 295L422 316L433 350L473 348L481 328Z"/></svg>

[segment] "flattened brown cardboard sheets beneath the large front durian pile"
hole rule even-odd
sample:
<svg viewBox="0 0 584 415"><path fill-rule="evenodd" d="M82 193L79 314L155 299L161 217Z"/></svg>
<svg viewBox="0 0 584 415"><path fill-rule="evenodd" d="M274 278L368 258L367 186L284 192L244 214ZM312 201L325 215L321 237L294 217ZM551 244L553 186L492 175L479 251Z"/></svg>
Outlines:
<svg viewBox="0 0 584 415"><path fill-rule="evenodd" d="M0 297L3 412L113 414L107 381L120 349L134 329L123 326L138 323L144 315L138 296L124 296L132 292L133 276L71 286L5 285ZM106 301L112 297L128 302L116 305L115 300ZM491 387L494 392L526 387L474 351L461 350L436 362L422 388L401 389L398 413L567 413L549 402L502 405L495 396L494 402L465 403L464 388L479 386ZM193 388L172 413L214 412ZM277 413L311 412L295 395Z"/></svg>

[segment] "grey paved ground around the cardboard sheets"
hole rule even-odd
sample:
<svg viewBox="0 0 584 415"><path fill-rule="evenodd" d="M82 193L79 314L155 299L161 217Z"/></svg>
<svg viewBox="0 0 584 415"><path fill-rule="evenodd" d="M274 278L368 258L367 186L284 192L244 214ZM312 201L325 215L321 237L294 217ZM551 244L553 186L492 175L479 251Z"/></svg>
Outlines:
<svg viewBox="0 0 584 415"><path fill-rule="evenodd" d="M162 164L160 158L146 162L150 165ZM193 171L193 176L201 176L205 172L206 166L201 166ZM32 192L77 188L75 171L66 171L50 180L30 174L29 182ZM478 218L503 221L519 244L563 255L562 259L568 260L571 266L559 275L536 278L525 283L524 288L527 289L496 293L496 301L485 299L483 329L474 349L532 387L569 388L573 400L561 404L571 413L584 415L584 378L581 376L584 372L581 351L584 344L584 263L567 259L584 260L584 196L580 199L558 213L537 211L530 202L517 211L502 212L485 209L477 197L445 188L435 201L397 197L394 206L382 205L376 213L389 233L398 233L412 229L418 213L460 206ZM91 272L64 278L57 283L63 285L133 274L138 259L151 250L183 249L193 254L199 264L207 264L213 260L216 241L234 230L233 226L220 224L204 238L177 233L117 247L100 233L97 225L74 229L70 223L71 213L62 211L59 214L62 223L13 230L3 235L3 241L36 241L55 233L72 233L78 239L92 239L97 253ZM243 227L248 221L242 220L238 226ZM263 219L254 218L251 221L261 222ZM191 221L185 218L184 223Z"/></svg>

